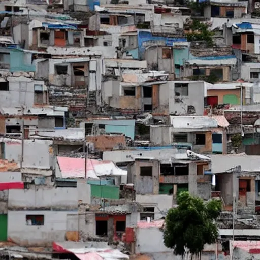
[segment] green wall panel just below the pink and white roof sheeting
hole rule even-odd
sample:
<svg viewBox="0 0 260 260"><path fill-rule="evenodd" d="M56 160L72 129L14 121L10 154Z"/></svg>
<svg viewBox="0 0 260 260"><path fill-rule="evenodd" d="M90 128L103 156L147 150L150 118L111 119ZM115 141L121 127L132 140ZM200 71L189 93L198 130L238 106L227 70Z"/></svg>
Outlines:
<svg viewBox="0 0 260 260"><path fill-rule="evenodd" d="M119 199L119 187L91 184L91 197Z"/></svg>

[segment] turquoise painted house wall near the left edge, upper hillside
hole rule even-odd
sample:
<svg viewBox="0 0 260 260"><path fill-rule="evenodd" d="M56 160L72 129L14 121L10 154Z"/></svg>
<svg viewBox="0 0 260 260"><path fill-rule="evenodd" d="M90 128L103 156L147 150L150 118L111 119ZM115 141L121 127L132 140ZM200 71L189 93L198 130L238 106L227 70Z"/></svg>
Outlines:
<svg viewBox="0 0 260 260"><path fill-rule="evenodd" d="M32 53L22 50L10 50L10 72L16 71L36 71L35 65L32 65Z"/></svg>

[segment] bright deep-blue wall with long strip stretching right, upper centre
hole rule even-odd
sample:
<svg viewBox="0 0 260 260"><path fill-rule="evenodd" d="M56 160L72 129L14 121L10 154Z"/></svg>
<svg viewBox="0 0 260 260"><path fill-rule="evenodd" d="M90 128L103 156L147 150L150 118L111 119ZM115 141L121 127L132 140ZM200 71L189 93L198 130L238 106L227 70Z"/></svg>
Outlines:
<svg viewBox="0 0 260 260"><path fill-rule="evenodd" d="M163 36L153 36L151 31L147 30L138 30L138 50L139 50L139 59L145 53L145 49L148 46L173 46L174 42L186 42L186 38L169 38Z"/></svg>

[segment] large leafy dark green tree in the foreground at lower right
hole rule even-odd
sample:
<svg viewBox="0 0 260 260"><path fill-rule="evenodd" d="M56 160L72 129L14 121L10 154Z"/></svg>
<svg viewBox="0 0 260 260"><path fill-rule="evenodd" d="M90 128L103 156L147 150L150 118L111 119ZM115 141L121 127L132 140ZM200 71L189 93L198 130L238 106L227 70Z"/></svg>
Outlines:
<svg viewBox="0 0 260 260"><path fill-rule="evenodd" d="M166 216L164 243L176 255L184 256L188 250L192 257L200 256L204 245L215 243L218 237L215 220L221 213L221 202L205 203L185 191L179 194L177 204Z"/></svg>

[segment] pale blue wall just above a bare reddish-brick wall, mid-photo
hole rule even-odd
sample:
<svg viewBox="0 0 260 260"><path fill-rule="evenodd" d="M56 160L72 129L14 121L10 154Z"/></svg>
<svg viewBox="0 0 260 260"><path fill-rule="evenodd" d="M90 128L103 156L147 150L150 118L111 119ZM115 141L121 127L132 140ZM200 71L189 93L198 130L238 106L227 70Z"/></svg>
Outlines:
<svg viewBox="0 0 260 260"><path fill-rule="evenodd" d="M134 139L136 120L94 120L95 124L105 124L107 133L122 133Z"/></svg>

